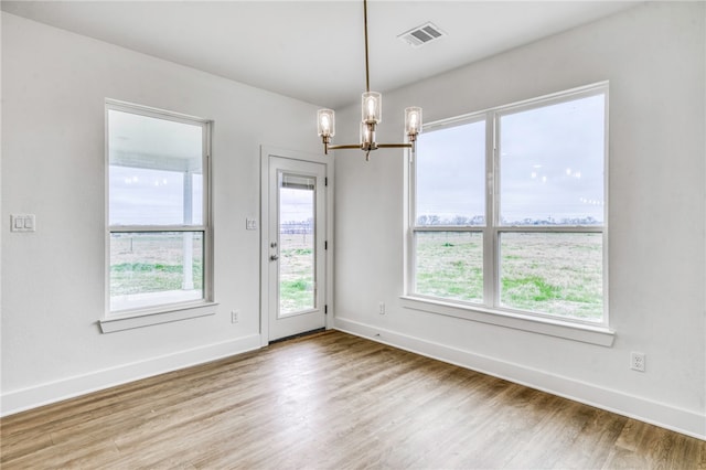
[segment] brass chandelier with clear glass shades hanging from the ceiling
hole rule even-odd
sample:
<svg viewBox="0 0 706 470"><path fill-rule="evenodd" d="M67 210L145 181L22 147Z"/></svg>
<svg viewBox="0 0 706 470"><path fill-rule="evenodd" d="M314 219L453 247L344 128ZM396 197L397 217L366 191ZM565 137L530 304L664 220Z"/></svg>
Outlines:
<svg viewBox="0 0 706 470"><path fill-rule="evenodd" d="M365 152L365 160L371 158L371 151L377 149L406 148L415 151L417 136L421 132L421 108L405 108L405 143L377 143L375 129L382 120L383 97L379 93L371 92L370 65L367 60L367 0L363 0L363 25L365 30L365 93L362 97L361 143L331 145L335 135L335 116L333 109L319 109L317 115L319 137L323 142L323 152L336 149L361 149Z"/></svg>

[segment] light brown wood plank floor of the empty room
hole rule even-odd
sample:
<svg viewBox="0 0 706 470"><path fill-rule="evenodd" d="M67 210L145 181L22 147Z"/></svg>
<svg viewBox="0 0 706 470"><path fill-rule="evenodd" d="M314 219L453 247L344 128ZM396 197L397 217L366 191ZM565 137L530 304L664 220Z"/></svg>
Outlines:
<svg viewBox="0 0 706 470"><path fill-rule="evenodd" d="M706 469L706 441L341 332L0 420L2 469Z"/></svg>

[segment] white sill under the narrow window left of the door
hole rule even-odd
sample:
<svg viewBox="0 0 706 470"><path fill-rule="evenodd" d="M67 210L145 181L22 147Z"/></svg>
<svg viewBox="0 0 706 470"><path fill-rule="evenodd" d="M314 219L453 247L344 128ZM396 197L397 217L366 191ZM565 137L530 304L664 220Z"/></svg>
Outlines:
<svg viewBox="0 0 706 470"><path fill-rule="evenodd" d="M216 302L195 302L171 306L169 310L130 311L122 314L110 316L100 320L98 323L104 333L114 333L133 328L151 327L153 324L212 316L216 313L217 306L218 303Z"/></svg>

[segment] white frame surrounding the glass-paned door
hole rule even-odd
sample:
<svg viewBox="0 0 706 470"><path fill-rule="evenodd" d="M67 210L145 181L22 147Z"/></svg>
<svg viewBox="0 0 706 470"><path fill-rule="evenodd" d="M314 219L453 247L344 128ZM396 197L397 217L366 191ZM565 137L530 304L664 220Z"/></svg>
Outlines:
<svg viewBox="0 0 706 470"><path fill-rule="evenodd" d="M325 273L324 273L324 305L327 313L324 314L324 328L330 330L334 325L334 306L333 306L333 174L334 160L333 156L324 156L322 153L308 153L297 150L288 150L271 146L260 146L260 345L269 344L269 162L270 157L289 160L300 160L312 163L321 163L324 165L324 175L328 184L325 186L325 239L328 249L325 250Z"/></svg>

